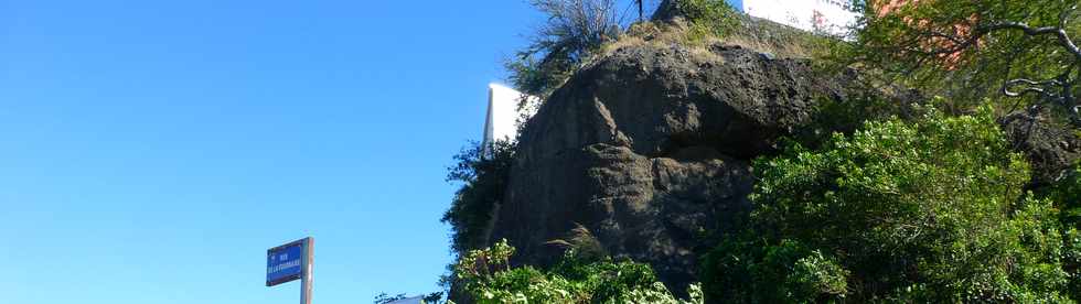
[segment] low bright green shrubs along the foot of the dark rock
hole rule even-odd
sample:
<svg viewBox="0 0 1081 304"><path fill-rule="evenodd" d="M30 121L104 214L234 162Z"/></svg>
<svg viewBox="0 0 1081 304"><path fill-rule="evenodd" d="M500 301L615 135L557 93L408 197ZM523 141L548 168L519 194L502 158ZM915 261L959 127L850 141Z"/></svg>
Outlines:
<svg viewBox="0 0 1081 304"><path fill-rule="evenodd" d="M484 303L702 303L692 286L689 301L678 300L642 263L587 259L568 250L550 270L511 268L514 248L506 240L472 250L454 264L464 291Z"/></svg>

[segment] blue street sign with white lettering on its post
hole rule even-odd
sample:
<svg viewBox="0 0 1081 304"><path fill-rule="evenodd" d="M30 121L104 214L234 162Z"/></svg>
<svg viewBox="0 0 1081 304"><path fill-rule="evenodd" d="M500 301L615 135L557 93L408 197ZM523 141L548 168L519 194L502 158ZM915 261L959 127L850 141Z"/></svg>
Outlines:
<svg viewBox="0 0 1081 304"><path fill-rule="evenodd" d="M313 247L303 238L267 250L267 286L300 280L300 304L311 304Z"/></svg>

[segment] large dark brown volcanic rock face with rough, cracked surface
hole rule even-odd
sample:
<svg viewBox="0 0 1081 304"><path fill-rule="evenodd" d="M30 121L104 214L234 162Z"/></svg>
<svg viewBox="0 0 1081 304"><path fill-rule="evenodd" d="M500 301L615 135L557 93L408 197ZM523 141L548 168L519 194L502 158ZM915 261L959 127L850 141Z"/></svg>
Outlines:
<svg viewBox="0 0 1081 304"><path fill-rule="evenodd" d="M684 290L713 246L704 232L750 209L749 160L805 124L814 100L844 101L852 80L738 46L699 51L625 46L556 90L521 134L489 239L544 265L560 256L545 242L580 224Z"/></svg>

